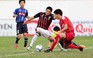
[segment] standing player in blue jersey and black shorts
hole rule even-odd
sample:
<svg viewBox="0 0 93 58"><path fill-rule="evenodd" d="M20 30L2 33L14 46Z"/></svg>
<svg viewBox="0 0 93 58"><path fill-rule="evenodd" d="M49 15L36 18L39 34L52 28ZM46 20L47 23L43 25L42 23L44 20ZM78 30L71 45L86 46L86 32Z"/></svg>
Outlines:
<svg viewBox="0 0 93 58"><path fill-rule="evenodd" d="M17 37L14 44L14 47L18 47L18 41L21 38L21 34L24 36L24 47L27 46L28 38L27 38L27 25L24 24L26 18L30 19L28 16L28 10L24 8L25 0L19 0L20 8L15 9L13 17L16 17L16 30L17 30Z"/></svg>

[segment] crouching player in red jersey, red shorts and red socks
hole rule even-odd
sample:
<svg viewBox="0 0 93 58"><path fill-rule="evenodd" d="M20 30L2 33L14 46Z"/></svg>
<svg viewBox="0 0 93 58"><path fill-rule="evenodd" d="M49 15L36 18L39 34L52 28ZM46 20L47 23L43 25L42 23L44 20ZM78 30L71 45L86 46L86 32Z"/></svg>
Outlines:
<svg viewBox="0 0 93 58"><path fill-rule="evenodd" d="M66 16L62 16L63 12L61 9L56 9L54 11L54 14L55 14L55 18L60 20L59 24L60 24L61 30L58 31L58 34L55 37L55 40L53 41L52 46L49 49L45 50L45 52L53 51L56 43L60 41L61 39L64 41L63 46L65 49L71 48L71 49L78 49L80 51L83 51L83 47L72 43L72 40L75 37L75 33L74 33L74 27L71 21L69 20L69 18Z"/></svg>

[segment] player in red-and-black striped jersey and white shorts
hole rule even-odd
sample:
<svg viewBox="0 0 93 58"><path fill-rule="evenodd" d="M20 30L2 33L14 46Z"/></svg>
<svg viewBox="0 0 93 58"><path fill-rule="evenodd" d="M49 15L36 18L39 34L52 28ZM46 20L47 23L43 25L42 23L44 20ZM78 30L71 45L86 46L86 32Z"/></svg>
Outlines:
<svg viewBox="0 0 93 58"><path fill-rule="evenodd" d="M51 33L48 31L48 28L49 28L52 20L54 20L54 16L52 14L52 7L48 6L46 8L46 12L39 12L36 15L34 15L33 17L31 17L30 20L35 19L35 18L39 18L37 27L36 27L36 33L32 38L30 46L27 48L28 50L30 48L32 48L32 45L34 44L34 42L36 41L38 36L43 36L45 38L48 38L50 41L53 40L52 38L50 38ZM26 22L28 22L30 20L27 20Z"/></svg>

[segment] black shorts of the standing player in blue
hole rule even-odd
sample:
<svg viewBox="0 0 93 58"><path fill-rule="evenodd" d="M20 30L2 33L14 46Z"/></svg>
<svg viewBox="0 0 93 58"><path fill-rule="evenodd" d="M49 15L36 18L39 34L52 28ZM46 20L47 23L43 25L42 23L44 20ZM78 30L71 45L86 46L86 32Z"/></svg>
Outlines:
<svg viewBox="0 0 93 58"><path fill-rule="evenodd" d="M17 23L16 32L18 34L28 33L27 24L23 24L23 22Z"/></svg>

